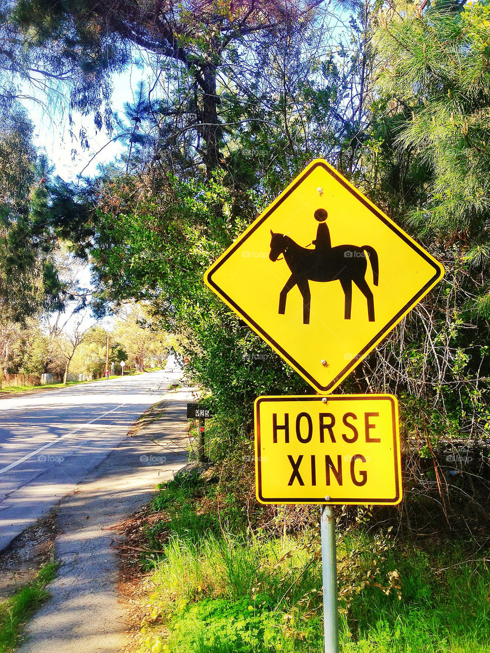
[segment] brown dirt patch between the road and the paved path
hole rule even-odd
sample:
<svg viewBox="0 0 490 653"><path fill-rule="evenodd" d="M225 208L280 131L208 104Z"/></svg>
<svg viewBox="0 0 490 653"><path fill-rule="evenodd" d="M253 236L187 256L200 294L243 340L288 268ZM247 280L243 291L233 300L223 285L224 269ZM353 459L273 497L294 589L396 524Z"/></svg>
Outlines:
<svg viewBox="0 0 490 653"><path fill-rule="evenodd" d="M0 552L0 598L11 596L31 582L42 565L52 560L57 534L56 513L38 520Z"/></svg>

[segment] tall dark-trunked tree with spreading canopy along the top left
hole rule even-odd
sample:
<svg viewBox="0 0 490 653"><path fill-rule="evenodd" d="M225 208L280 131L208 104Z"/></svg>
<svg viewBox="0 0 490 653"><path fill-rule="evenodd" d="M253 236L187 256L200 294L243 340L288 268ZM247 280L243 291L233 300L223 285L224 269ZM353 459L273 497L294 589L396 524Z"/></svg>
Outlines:
<svg viewBox="0 0 490 653"><path fill-rule="evenodd" d="M61 56L59 61L70 61L77 46L85 55L93 53L92 59L84 59L82 68L97 80L106 79L112 62L123 61L131 46L155 54L158 75L164 72L169 88L179 89L162 106L162 144L172 144L176 162L183 144L188 166L192 148L198 157L194 163L203 162L209 178L221 165L229 131L220 115L226 101L222 92L228 86L226 78L236 80L237 62L258 42L262 41L265 51L274 41L303 31L314 8L321 4L322 0L295 0L287 5L276 0L172 0L164 6L150 6L143 2L102 5L93 0L18 0L12 21L26 34L35 34L33 46L65 45L69 56ZM105 51L109 54L104 58ZM89 75L85 77L93 82ZM74 87L72 103L78 103L81 110L84 104L85 110L97 106L83 84ZM136 114L134 119L136 127L140 116Z"/></svg>

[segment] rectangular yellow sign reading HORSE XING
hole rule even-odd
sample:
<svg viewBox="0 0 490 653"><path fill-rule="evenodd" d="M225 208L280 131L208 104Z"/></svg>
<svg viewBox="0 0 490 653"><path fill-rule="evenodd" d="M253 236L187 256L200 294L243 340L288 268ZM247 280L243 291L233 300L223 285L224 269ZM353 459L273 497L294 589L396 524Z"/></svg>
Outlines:
<svg viewBox="0 0 490 653"><path fill-rule="evenodd" d="M259 397L255 470L261 503L399 503L396 398L390 394Z"/></svg>

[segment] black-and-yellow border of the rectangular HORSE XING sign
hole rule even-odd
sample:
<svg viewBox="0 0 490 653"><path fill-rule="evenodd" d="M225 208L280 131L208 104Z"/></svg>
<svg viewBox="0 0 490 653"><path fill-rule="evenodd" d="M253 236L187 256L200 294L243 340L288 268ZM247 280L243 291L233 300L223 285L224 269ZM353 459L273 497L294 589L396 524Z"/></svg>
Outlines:
<svg viewBox="0 0 490 653"><path fill-rule="evenodd" d="M397 505L403 498L402 479L401 479L401 451L400 451L400 434L399 434L399 421L398 421L398 400L393 394L331 394L328 397L330 402L342 402L352 400L380 400L386 399L391 403L391 423L393 425L393 464L395 466L395 488L396 494L390 498L373 497L369 500L359 500L349 497L333 497L331 501L320 500L318 497L311 499L305 498L264 498L262 496L262 460L260 459L260 404L262 402L321 402L322 397L320 394L315 395L286 395L286 396L261 396L256 398L254 402L254 425L255 425L255 492L256 498L259 503L270 504L287 504L287 505Z"/></svg>

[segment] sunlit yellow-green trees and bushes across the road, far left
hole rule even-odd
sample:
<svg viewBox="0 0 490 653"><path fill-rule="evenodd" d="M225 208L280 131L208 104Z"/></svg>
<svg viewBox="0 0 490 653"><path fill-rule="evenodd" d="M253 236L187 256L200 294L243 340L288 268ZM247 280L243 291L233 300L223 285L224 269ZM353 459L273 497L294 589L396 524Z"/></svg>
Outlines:
<svg viewBox="0 0 490 653"><path fill-rule="evenodd" d="M161 367L169 351L180 351L176 338L160 328L153 328L151 317L144 306L130 302L119 311L113 328L95 325L83 330L67 321L61 313L38 323L31 319L29 325L2 325L0 321L0 391L18 392L36 387L53 387L63 383L78 383L105 377L108 353L109 370L121 374L121 360L126 364L125 374L144 368ZM5 327L3 329L3 327ZM2 337L3 336L3 337ZM109 339L109 351L107 341ZM41 375L49 382L41 385Z"/></svg>

